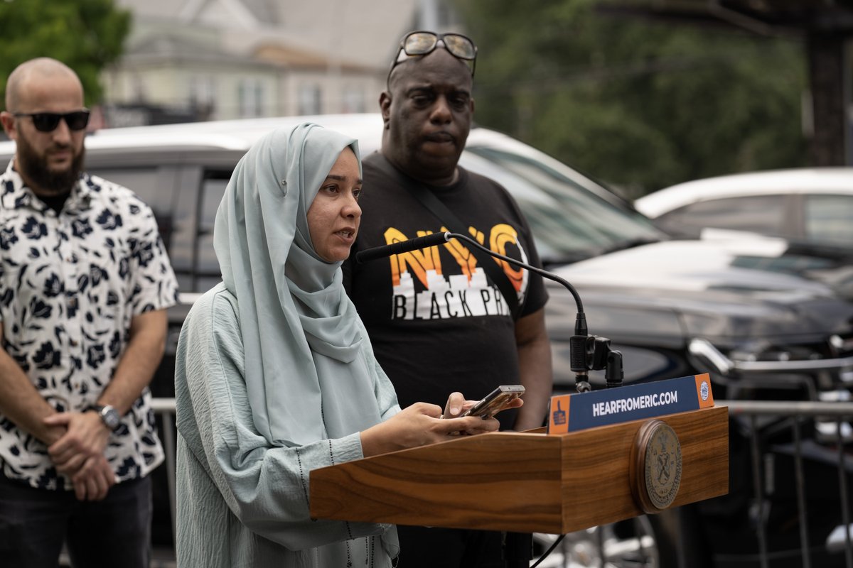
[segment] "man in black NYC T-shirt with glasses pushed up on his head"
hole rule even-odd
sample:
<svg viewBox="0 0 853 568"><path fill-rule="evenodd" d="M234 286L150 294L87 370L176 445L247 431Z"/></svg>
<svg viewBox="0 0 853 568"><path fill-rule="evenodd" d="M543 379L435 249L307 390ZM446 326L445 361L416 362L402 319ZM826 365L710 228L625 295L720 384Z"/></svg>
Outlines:
<svg viewBox="0 0 853 568"><path fill-rule="evenodd" d="M524 406L496 418L502 427L526 430L542 426L552 387L540 277L480 260L456 241L390 261L354 261L357 250L456 225L462 228L451 230L491 250L539 264L513 198L458 165L473 118L476 56L461 34L403 37L379 100L382 149L363 162L362 224L344 282L401 406L444 404L452 391L485 396L520 383ZM500 268L490 271L489 264ZM496 532L399 526L398 533L400 568L505 566Z"/></svg>

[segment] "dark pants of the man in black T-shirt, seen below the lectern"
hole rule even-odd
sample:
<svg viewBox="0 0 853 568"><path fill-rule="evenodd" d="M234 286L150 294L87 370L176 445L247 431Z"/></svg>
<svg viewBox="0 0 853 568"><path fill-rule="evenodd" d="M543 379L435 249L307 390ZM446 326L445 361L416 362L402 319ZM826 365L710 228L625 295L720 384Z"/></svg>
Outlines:
<svg viewBox="0 0 853 568"><path fill-rule="evenodd" d="M496 531L397 525L398 568L505 568Z"/></svg>

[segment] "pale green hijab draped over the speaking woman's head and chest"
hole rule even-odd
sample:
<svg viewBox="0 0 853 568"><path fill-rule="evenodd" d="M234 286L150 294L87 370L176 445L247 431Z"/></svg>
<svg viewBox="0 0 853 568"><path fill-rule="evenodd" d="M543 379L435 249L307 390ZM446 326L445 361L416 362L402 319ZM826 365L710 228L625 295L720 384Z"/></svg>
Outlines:
<svg viewBox="0 0 853 568"><path fill-rule="evenodd" d="M346 147L358 158L357 141L317 124L277 129L237 164L217 211L213 241L237 299L249 404L271 445L380 422L376 370L358 356L366 332L340 262L316 254L308 227L310 204Z"/></svg>

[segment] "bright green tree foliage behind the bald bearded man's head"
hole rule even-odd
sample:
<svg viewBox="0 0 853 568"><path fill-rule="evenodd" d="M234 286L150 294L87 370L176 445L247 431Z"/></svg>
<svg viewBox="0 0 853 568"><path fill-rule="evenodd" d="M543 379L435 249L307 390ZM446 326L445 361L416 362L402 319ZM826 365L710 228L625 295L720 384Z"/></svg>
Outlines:
<svg viewBox="0 0 853 568"><path fill-rule="evenodd" d="M43 56L77 72L86 104L95 104L99 74L121 54L130 26L131 14L113 0L0 0L0 106L9 73Z"/></svg>

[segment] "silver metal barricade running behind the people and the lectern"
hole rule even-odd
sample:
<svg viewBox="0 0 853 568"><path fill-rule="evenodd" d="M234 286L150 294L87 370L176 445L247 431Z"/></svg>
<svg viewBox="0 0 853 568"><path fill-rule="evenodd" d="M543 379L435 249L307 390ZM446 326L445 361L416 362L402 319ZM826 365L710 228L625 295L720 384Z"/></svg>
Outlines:
<svg viewBox="0 0 853 568"><path fill-rule="evenodd" d="M848 479L846 472L848 469L853 470L853 459L846 456L846 444L851 441L850 420L853 419L853 402L780 402L780 401L740 401L740 400L718 400L718 406L728 406L730 417L743 417L751 425L751 472L753 485L752 489L755 496L763 496L767 491L767 485L770 482L763 475L766 468L763 467L763 453L759 450L758 432L760 430L758 422L762 418L779 418L784 419L786 427L791 428L792 435L792 458L794 467L794 478L797 493L797 510L798 510L798 525L800 532L801 551L803 568L811 568L813 566L811 552L809 551L809 523L807 522L807 513L809 503L806 500L806 480L804 479L804 453L803 453L803 433L802 427L805 422L820 422L821 433L826 438L827 436L834 439L828 441L835 447L836 459L834 466L838 471L838 508L839 518L841 522L838 525L838 530L833 531L832 535L827 538L825 543L827 549L837 552L839 555L843 553L844 565L847 568L853 568L853 546L850 542L850 529L844 530L844 527L850 527L850 488L848 487ZM162 438L165 448L165 468L167 469L167 477L169 480L169 502L171 506L171 528L172 535L175 534L175 429L174 429L174 414L175 401L174 399L154 399L154 412L162 419ZM831 426L834 432L829 432L827 426ZM771 565L771 552L768 548L767 534L767 516L763 507L764 500L758 498L755 500L757 507L757 524L755 530L755 540L757 544L757 565L760 568L769 568ZM578 562L577 559L570 559L569 553L564 548L561 558L555 558L552 562L545 565L558 566L604 566L606 565L607 552L605 543L600 533L596 533L594 539L597 540L599 554L596 559L588 564ZM677 539L682 542L682 539ZM640 544L639 546L643 546ZM678 546L676 544L676 546ZM558 549L559 550L559 549ZM677 554L677 565L680 568L689 568L691 565L688 560L688 555L685 551L679 550ZM653 562L651 565L659 565Z"/></svg>

